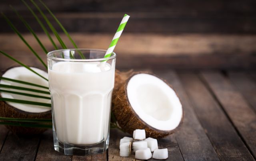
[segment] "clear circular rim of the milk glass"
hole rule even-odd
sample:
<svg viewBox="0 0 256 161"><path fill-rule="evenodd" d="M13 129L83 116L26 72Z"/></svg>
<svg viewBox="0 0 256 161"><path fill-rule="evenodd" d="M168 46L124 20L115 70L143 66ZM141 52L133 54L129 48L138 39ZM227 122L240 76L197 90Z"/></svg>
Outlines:
<svg viewBox="0 0 256 161"><path fill-rule="evenodd" d="M107 61L110 59L116 58L116 53L112 52L113 55L107 58L98 58L98 59L67 59L67 58L58 58L58 57L52 57L52 53L60 53L60 51L72 51L72 50L86 50L86 51L103 51L104 53L107 52L107 50L104 49L90 49L90 48L77 48L77 49L58 49L54 51L50 51L47 53L47 58L52 60L58 60L58 61L72 61L72 62L94 62L94 61Z"/></svg>

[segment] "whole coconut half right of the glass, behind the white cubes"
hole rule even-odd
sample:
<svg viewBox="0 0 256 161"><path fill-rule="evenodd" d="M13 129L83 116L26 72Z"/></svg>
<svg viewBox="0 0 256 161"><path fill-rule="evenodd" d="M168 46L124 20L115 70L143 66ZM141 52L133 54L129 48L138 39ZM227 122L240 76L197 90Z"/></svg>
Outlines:
<svg viewBox="0 0 256 161"><path fill-rule="evenodd" d="M132 134L145 129L147 137L172 134L182 121L182 104L165 81L148 73L134 73L116 91L113 113L120 127Z"/></svg>

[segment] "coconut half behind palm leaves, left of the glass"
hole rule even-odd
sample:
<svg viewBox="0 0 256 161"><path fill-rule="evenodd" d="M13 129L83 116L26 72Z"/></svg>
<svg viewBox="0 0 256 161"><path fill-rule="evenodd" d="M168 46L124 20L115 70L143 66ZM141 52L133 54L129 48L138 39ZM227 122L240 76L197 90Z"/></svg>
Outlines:
<svg viewBox="0 0 256 161"><path fill-rule="evenodd" d="M48 78L48 73L46 73L45 71L42 71L41 69L34 68L34 67L31 67L31 69L33 69L43 77ZM39 84L42 86L48 86L48 81L38 77L38 75L32 73L25 67L12 67L6 70L3 73L2 77L31 82L31 83ZM30 86L27 84L21 84L21 83L7 81L3 79L0 80L0 84L47 91L47 89L45 88ZM25 90L16 90L16 89L3 88L3 87L1 87L0 89L50 97L50 94L42 94L38 92L30 92ZM6 93L6 92L0 92L0 96L3 98L13 98L13 99L28 100L28 101L42 102L42 103L49 103L49 104L51 103L50 99L34 98L30 96L23 96L23 95ZM0 116L8 117L8 118L52 118L51 108L44 107L44 106L29 105L29 104L19 104L14 102L5 102L5 101L0 101ZM6 127L12 130L12 132L16 134L39 134L46 130L42 128L24 128L24 127L16 127L16 126L6 126Z"/></svg>

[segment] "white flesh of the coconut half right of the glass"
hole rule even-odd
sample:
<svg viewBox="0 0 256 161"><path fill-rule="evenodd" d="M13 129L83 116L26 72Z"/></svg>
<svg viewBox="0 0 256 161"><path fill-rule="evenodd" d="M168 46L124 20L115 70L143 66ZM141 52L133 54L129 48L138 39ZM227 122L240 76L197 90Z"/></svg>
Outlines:
<svg viewBox="0 0 256 161"><path fill-rule="evenodd" d="M127 97L134 112L149 126L174 130L182 119L182 105L174 90L154 75L134 75L127 84Z"/></svg>

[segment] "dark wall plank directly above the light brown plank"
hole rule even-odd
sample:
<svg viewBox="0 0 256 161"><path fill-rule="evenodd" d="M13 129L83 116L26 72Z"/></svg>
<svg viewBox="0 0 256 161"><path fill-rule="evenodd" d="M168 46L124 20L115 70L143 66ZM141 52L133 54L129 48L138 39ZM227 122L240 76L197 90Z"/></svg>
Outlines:
<svg viewBox="0 0 256 161"><path fill-rule="evenodd" d="M222 17L216 17L215 15L198 16L192 14L177 16L174 13L175 12L167 12L164 14L162 12L136 13L128 11L126 14L129 14L131 18L125 30L126 32L135 33L256 33L255 16L252 15L243 16L241 14L239 16L231 15L226 17L222 15ZM114 14L115 16L113 16ZM61 32L62 30L58 24L52 20L51 16L49 14L46 15L50 18L56 30ZM123 11L103 14L64 12L57 13L56 17L66 30L70 32L114 33L123 15ZM17 16L8 17L16 26L19 26L19 31L28 32ZM38 22L36 22L31 14L24 14L23 17L35 31L42 31ZM0 21L5 22L2 17L0 17ZM245 25L247 26L244 27ZM1 24L0 31L12 32L6 23Z"/></svg>

